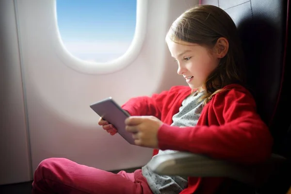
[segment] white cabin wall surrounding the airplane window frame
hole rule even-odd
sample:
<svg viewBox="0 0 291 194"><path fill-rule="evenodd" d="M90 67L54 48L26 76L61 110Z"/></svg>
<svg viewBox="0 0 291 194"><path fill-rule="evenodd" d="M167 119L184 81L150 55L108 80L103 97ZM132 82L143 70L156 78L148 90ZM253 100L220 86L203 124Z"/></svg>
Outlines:
<svg viewBox="0 0 291 194"><path fill-rule="evenodd" d="M104 75L78 72L60 57L66 53L56 49L61 43L54 0L14 2L16 17L13 1L0 1L1 83L5 84L1 85L5 114L0 136L0 184L32 179L39 162L49 157L68 158L103 170L145 165L152 149L131 146L118 134L106 133L97 125L99 117L89 105L109 96L121 105L130 97L186 85L177 75L177 64L164 38L170 24L198 0L148 0L146 37L140 54L126 68Z"/></svg>

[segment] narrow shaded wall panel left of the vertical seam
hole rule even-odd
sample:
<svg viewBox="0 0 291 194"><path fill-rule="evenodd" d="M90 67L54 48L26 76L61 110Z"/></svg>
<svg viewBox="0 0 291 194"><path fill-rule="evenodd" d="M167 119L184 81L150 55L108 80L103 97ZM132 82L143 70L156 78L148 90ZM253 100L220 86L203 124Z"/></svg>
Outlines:
<svg viewBox="0 0 291 194"><path fill-rule="evenodd" d="M32 179L13 0L0 1L0 185Z"/></svg>

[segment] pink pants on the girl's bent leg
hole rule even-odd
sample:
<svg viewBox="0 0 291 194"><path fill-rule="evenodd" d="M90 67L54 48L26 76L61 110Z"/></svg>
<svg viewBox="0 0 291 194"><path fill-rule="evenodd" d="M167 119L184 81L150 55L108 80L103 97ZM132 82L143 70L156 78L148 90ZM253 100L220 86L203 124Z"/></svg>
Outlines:
<svg viewBox="0 0 291 194"><path fill-rule="evenodd" d="M32 194L152 194L152 191L141 169L114 174L65 158L49 158L34 172Z"/></svg>

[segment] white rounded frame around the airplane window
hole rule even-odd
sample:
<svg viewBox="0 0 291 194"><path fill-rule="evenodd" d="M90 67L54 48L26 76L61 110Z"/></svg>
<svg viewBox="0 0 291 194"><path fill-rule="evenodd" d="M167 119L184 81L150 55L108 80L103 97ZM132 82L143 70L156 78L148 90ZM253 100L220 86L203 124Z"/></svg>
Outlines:
<svg viewBox="0 0 291 194"><path fill-rule="evenodd" d="M82 60L68 51L62 41L58 28L57 6L54 1L54 17L57 29L57 39L54 42L55 52L63 64L84 74L104 75L120 71L136 60L142 49L146 36L147 22L147 0L137 0L136 2L136 22L133 39L127 51L120 57L109 62L90 62Z"/></svg>

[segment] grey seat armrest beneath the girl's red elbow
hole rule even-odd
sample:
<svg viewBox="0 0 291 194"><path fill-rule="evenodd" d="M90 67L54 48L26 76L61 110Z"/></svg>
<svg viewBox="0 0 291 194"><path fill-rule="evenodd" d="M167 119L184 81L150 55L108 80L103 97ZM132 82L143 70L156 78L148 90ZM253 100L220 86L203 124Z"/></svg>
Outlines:
<svg viewBox="0 0 291 194"><path fill-rule="evenodd" d="M156 155L147 165L159 175L225 177L252 186L259 186L274 173L276 166L284 161L286 161L284 157L272 154L266 162L250 166L214 160L207 156L188 152L177 152Z"/></svg>

